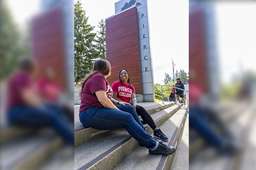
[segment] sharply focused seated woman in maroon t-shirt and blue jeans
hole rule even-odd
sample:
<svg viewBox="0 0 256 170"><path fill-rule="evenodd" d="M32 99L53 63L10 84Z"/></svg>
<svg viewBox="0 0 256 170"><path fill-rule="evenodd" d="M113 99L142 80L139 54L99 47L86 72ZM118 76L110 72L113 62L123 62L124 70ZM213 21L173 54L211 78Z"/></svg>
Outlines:
<svg viewBox="0 0 256 170"><path fill-rule="evenodd" d="M81 83L81 106L79 118L84 127L99 130L125 128L152 155L171 155L174 147L166 146L145 131L131 105L117 101L106 78L111 74L111 65L105 59L93 64L92 72ZM125 110L125 111L124 111Z"/></svg>

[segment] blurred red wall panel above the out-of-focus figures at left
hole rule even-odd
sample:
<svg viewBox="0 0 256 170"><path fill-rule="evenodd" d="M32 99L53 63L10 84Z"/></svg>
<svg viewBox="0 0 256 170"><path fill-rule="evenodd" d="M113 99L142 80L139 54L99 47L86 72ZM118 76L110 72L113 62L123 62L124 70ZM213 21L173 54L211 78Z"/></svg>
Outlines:
<svg viewBox="0 0 256 170"><path fill-rule="evenodd" d="M62 17L61 8L54 8L33 19L32 56L38 64L38 79L44 76L45 68L51 66L56 81L62 88L67 88Z"/></svg>

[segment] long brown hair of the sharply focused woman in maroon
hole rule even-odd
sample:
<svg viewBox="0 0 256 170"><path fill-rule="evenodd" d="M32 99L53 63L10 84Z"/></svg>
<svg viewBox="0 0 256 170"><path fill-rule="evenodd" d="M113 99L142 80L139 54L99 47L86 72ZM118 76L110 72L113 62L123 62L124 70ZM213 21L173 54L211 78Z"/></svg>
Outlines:
<svg viewBox="0 0 256 170"><path fill-rule="evenodd" d="M101 73L102 75L106 76L109 74L110 70L111 70L111 65L106 59L96 60L93 63L92 71L89 73L89 75L87 75L81 81L81 85L80 85L81 89L80 89L79 95L78 95L80 97L80 99L81 99L81 95L83 93L84 84L90 77L92 77L92 75L94 75L95 73Z"/></svg>

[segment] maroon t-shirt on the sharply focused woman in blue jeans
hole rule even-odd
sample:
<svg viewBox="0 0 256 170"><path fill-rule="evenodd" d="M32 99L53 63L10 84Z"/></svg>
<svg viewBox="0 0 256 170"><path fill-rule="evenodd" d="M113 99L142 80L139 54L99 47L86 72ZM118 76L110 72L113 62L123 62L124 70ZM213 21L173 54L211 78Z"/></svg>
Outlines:
<svg viewBox="0 0 256 170"><path fill-rule="evenodd" d="M100 104L96 91L106 91L107 97L111 99L113 91L108 81L106 81L104 75L101 73L95 73L90 77L84 84L83 93L81 95L81 105L79 109L79 114L91 106L104 107Z"/></svg>

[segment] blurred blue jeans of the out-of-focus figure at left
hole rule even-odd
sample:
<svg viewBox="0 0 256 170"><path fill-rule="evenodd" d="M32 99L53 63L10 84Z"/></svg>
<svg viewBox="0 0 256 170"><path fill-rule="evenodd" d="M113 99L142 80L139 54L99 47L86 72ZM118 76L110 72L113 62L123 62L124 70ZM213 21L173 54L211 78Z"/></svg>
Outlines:
<svg viewBox="0 0 256 170"><path fill-rule="evenodd" d="M58 105L44 105L44 107L17 105L8 111L7 118L10 124L21 127L52 127L65 141L74 144L74 130L65 120L63 111Z"/></svg>

